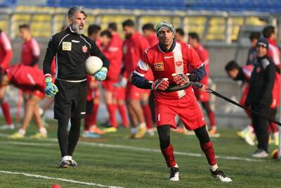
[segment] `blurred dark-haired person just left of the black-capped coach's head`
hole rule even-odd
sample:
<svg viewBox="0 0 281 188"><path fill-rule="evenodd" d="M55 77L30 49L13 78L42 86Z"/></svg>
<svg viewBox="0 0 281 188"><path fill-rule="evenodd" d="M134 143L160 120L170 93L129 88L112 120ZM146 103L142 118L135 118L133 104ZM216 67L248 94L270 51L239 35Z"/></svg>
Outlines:
<svg viewBox="0 0 281 188"><path fill-rule="evenodd" d="M256 42L258 42L260 37L260 32L251 32L249 36L249 39L251 41L251 48L248 52L247 65L252 65L254 64L254 61L256 61Z"/></svg>

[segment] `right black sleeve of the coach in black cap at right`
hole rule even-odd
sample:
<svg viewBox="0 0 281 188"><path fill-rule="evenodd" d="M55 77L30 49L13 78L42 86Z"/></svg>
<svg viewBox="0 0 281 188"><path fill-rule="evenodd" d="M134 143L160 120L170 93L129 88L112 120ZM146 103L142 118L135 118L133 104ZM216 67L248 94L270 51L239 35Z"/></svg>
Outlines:
<svg viewBox="0 0 281 188"><path fill-rule="evenodd" d="M263 88L263 94L261 96L261 104L269 104L272 100L272 91L275 82L275 65L270 63L265 70L265 81L266 85Z"/></svg>

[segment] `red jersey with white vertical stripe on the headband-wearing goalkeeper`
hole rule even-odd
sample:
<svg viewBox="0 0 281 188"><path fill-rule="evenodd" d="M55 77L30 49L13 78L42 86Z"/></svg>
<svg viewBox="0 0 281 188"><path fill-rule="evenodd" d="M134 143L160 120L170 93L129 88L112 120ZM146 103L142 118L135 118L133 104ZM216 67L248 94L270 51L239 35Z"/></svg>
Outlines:
<svg viewBox="0 0 281 188"><path fill-rule="evenodd" d="M141 60L138 61L135 73L144 76L151 68L155 80L168 78L169 84L176 84L172 74L187 74L190 73L190 70L200 68L202 65L204 64L195 49L189 44L176 42L174 50L168 52L162 51L157 44L145 50ZM179 99L185 95L190 96L190 99L195 99L191 87L177 92L159 92L155 90L155 99Z"/></svg>

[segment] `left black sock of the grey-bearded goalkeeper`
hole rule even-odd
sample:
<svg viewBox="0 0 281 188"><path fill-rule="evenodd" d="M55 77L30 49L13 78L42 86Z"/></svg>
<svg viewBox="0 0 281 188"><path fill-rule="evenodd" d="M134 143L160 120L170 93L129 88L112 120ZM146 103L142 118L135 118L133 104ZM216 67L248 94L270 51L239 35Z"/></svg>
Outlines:
<svg viewBox="0 0 281 188"><path fill-rule="evenodd" d="M68 144L68 135L67 135L67 124L69 118L60 118L58 119L58 144L60 145L60 153L63 156L67 156L67 144Z"/></svg>

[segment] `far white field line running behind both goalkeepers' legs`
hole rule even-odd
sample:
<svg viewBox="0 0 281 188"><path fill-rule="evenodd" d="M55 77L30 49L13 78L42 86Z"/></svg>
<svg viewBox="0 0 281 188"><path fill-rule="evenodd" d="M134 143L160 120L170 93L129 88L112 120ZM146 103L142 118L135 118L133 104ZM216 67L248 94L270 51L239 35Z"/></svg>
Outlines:
<svg viewBox="0 0 281 188"><path fill-rule="evenodd" d="M0 137L3 137L4 135L0 134ZM44 140L48 140L51 142L58 142L57 139L54 138L47 138ZM18 144L18 145L35 145L37 144L40 146L41 143L34 143L34 142L3 142L6 144ZM89 146L99 146L99 147L106 147L106 148L112 148L112 149L128 149L133 151L147 151L147 152L154 152L159 153L161 152L159 149L149 149L149 148L142 148L142 147L134 147L134 146L124 146L124 145L116 145L116 144L101 144L101 143L95 143L95 142L79 142L79 144L89 145ZM47 146L46 144L42 143L41 146ZM192 157L205 157L201 153L188 153L188 152L181 152L181 151L174 151L176 155L180 156L192 156ZM249 161L249 162L261 162L266 161L263 159L255 159L255 158L242 158L242 157L236 157L236 156L216 156L216 158L226 159L226 160L236 160L236 161Z"/></svg>

